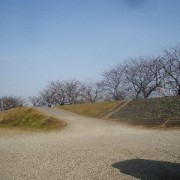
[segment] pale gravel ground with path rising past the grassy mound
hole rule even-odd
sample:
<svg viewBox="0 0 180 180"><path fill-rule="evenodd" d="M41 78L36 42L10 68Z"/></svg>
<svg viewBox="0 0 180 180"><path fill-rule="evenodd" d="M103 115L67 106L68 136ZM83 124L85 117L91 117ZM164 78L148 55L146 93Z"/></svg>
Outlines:
<svg viewBox="0 0 180 180"><path fill-rule="evenodd" d="M180 179L180 131L142 130L62 110L62 131L0 130L0 179Z"/></svg>

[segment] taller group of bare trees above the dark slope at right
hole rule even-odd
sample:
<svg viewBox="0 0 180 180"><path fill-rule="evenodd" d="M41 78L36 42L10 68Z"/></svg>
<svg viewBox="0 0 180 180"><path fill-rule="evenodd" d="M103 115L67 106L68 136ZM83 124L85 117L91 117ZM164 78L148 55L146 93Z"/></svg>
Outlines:
<svg viewBox="0 0 180 180"><path fill-rule="evenodd" d="M158 57L125 61L103 73L103 85L115 100L180 94L180 47Z"/></svg>

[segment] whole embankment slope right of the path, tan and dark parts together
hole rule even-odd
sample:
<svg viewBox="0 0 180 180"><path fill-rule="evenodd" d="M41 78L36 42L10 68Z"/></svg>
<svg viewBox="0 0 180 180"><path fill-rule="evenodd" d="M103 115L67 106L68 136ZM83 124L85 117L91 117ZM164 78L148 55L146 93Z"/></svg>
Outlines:
<svg viewBox="0 0 180 180"><path fill-rule="evenodd" d="M112 101L59 106L80 115L108 118L131 125L180 127L180 97Z"/></svg>

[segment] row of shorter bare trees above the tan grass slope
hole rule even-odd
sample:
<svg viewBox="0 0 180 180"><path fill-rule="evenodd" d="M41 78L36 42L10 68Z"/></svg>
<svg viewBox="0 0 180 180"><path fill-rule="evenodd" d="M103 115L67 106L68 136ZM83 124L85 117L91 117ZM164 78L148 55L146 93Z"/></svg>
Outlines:
<svg viewBox="0 0 180 180"><path fill-rule="evenodd" d="M30 97L34 106L52 106L96 102L101 99L98 83L68 81L50 81L38 96Z"/></svg>

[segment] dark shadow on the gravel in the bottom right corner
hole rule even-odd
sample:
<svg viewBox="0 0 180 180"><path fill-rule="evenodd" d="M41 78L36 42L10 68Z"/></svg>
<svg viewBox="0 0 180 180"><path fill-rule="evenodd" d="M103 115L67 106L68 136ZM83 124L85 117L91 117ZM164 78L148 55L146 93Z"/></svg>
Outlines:
<svg viewBox="0 0 180 180"><path fill-rule="evenodd" d="M180 164L145 159L131 159L112 164L121 173L141 180L179 180Z"/></svg>

